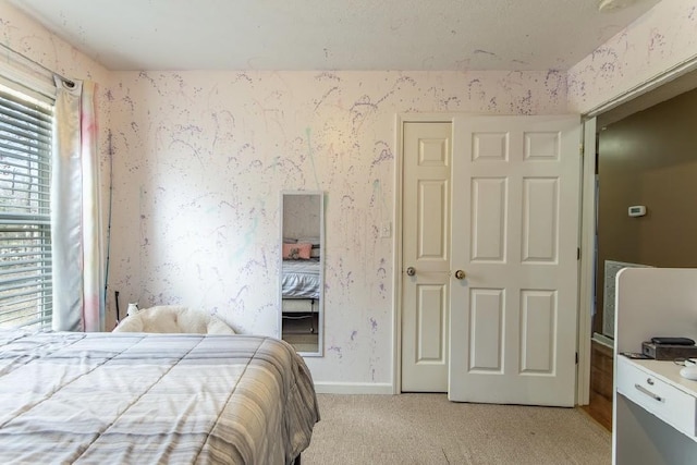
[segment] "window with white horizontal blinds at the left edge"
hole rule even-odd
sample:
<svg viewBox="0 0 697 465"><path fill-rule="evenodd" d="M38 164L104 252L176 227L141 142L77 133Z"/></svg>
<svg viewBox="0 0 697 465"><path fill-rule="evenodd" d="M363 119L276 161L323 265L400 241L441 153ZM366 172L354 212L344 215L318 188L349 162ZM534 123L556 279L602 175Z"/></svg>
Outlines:
<svg viewBox="0 0 697 465"><path fill-rule="evenodd" d="M51 101L0 84L0 328L51 326L52 125Z"/></svg>

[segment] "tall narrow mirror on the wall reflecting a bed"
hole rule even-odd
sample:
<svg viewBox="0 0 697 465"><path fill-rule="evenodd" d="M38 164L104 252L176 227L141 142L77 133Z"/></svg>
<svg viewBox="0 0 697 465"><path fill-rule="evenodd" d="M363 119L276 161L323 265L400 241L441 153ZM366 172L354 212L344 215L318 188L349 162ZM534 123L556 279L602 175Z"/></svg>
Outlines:
<svg viewBox="0 0 697 465"><path fill-rule="evenodd" d="M322 355L325 195L281 193L281 339L302 355Z"/></svg>

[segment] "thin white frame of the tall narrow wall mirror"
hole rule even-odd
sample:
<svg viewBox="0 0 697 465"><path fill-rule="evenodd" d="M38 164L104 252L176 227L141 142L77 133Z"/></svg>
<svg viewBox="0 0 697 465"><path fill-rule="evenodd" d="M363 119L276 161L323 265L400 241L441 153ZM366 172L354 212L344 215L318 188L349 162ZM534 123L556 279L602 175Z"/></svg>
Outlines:
<svg viewBox="0 0 697 465"><path fill-rule="evenodd" d="M321 357L325 354L325 192L323 191L281 191L279 200L279 319L278 336L283 339L283 220L286 196L317 196L319 198L319 302L317 306L317 352L297 352L304 357Z"/></svg>

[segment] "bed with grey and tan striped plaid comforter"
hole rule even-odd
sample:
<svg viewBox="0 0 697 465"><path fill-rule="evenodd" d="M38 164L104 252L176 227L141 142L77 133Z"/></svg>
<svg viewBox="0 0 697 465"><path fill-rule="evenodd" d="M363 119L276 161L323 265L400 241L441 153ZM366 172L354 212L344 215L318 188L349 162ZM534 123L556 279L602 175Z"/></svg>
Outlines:
<svg viewBox="0 0 697 465"><path fill-rule="evenodd" d="M299 463L311 376L272 338L0 331L0 463Z"/></svg>

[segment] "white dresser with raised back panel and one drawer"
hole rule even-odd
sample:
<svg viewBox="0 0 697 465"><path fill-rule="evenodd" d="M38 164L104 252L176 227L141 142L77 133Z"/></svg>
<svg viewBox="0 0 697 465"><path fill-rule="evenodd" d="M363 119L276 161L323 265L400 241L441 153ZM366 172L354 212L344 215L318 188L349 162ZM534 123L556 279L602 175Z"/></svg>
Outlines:
<svg viewBox="0 0 697 465"><path fill-rule="evenodd" d="M615 298L613 464L697 465L697 381L621 355L652 336L697 340L697 270L623 270Z"/></svg>

